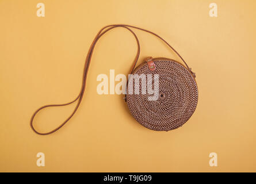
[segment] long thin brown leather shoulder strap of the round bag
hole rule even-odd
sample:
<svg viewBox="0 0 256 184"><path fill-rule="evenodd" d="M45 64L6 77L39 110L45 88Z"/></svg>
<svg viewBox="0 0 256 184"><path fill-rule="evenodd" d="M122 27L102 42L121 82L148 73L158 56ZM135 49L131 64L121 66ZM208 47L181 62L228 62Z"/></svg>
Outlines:
<svg viewBox="0 0 256 184"><path fill-rule="evenodd" d="M162 39L162 37L158 36L157 34L149 31L149 30L146 30L146 29L142 29L142 28L137 28L135 26L131 26L131 25L125 25L125 24L114 24L114 25L108 25L108 26L105 26L104 28L102 28L100 30L100 32L98 32L98 34L95 36L94 40L93 40L93 43L91 43L91 46L90 46L90 49L87 53L87 56L86 56L86 60L85 60L85 67L83 69L83 78L82 78L82 87L81 87L81 91L78 95L77 98L75 98L73 101L71 102L68 102L67 104L56 104L56 105L45 105L45 106L42 106L41 108L37 109L36 112L32 115L31 117L31 120L30 120L30 127L33 129L34 132L36 132L37 134L39 135L49 135L51 133L54 133L56 131L58 131L58 129L62 128L68 120L70 120L70 118L72 116L74 116L75 112L77 112L77 109L79 107L79 105L81 104L81 101L82 101L82 98L83 98L83 94L85 93L85 85L86 85L86 77L87 77L87 72L89 70L89 66L90 66L90 61L91 61L91 56L93 54L93 50L94 50L94 47L95 47L95 44L97 43L97 41L100 39L100 37L105 34L106 32L108 32L109 30L113 29L113 28L117 28L117 27L121 27L121 28L125 28L125 29L128 29L132 34L133 36L135 37L136 39L136 42L137 42L137 54L135 56L135 59L134 59L134 62L132 64L132 68L131 68L131 71L129 72L129 74L132 74L133 70L135 69L135 66L136 66L136 63L137 63L137 60L139 59L139 55L140 55L140 44L139 44L139 40L137 39L137 36L136 34L133 32L133 30L131 30L130 28L135 28L135 29L140 29L140 30L143 30L145 32L148 32L148 33L151 33L151 34L154 34L156 37L158 37L159 39L161 39L162 41L164 41L180 58L181 60L185 63L186 67L188 68L188 70L191 71L191 68L189 68L188 64L186 64L185 60L179 55L179 53L177 51L175 51L175 49L173 47L171 47L171 45L169 43L167 43L164 39ZM192 72L192 71L191 71ZM192 74L194 74L192 72ZM74 102L76 102L78 100L78 103L77 105L75 106L75 109L73 110L73 112L71 113L71 115L57 128L55 128L54 130L50 131L50 132L46 132L46 133L41 133L41 132L38 132L36 131L36 129L33 127L33 120L36 116L36 114L41 110L41 109L44 109L44 108L48 108L48 107L52 107L52 106L65 106L65 105L70 105Z"/></svg>

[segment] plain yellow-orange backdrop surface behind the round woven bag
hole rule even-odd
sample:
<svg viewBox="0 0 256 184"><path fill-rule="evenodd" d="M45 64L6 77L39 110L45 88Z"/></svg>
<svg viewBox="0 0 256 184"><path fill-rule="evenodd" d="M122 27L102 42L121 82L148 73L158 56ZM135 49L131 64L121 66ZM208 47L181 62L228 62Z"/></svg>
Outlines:
<svg viewBox="0 0 256 184"><path fill-rule="evenodd" d="M45 17L37 17L37 3ZM217 17L209 17L215 2ZM256 1L0 1L0 171L256 171ZM97 43L77 113L58 132L36 135L30 117L77 97L86 53L109 24L130 24L166 39L196 72L199 99L181 128L155 132L131 116L123 95L98 95L98 74L128 74L136 41L123 28ZM146 56L179 60L162 41L135 30ZM180 61L180 60L179 60ZM36 116L57 127L74 105ZM36 154L45 154L37 167ZM217 153L217 167L209 153Z"/></svg>

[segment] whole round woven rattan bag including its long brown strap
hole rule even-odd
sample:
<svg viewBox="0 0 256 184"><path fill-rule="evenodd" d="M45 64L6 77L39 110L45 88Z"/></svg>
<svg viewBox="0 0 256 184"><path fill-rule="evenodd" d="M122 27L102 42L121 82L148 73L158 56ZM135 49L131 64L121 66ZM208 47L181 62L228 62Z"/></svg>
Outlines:
<svg viewBox="0 0 256 184"><path fill-rule="evenodd" d="M37 109L30 120L30 127L34 132L39 135L48 135L50 133L54 133L63 127L63 125L66 124L66 122L70 120L72 116L74 116L79 105L81 104L83 94L85 93L86 76L89 70L91 55L93 54L95 44L103 34L113 28L118 27L129 30L137 41L137 55L133 62L131 71L129 72L129 74L132 75L128 76L127 93L124 97L125 102L127 102L128 108L135 120L144 127L154 131L170 131L171 129L181 127L186 121L189 120L196 109L198 100L197 83L195 80L196 75L194 72L192 72L191 68L189 68L188 64L186 64L179 53L175 51L170 44L163 40L162 37L146 29L137 28L131 25L117 24L108 25L102 28L95 36L93 43L91 43L85 60L82 87L78 97L66 104L45 105ZM144 62L140 64L140 66L135 68L137 60L139 59L140 44L136 34L132 30L133 28L154 34L156 37L161 39L175 53L177 53L177 55L185 63L185 66L173 59L167 59L164 57L153 59L152 57L147 57ZM139 80L141 79L140 76L145 76L144 79L146 79L146 81L151 81L152 86L154 86L154 90L156 88L158 92L156 93L156 97L152 97L152 94L150 93L140 93L142 91L147 92L150 90L147 85L143 85L142 80L139 81L139 83L134 82L136 81L135 76L139 76ZM155 81L151 78L151 76L156 76L156 78L154 78ZM139 93L136 93L137 91L135 89L137 89ZM59 127L46 133L36 131L33 126L33 119L41 109L50 106L65 106L76 101L77 105L75 106L74 111Z"/></svg>

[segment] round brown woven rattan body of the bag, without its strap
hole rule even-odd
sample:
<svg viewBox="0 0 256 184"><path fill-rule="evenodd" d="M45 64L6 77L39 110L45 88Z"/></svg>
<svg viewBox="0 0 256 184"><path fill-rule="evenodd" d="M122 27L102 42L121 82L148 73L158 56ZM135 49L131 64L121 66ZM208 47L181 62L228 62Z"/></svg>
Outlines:
<svg viewBox="0 0 256 184"><path fill-rule="evenodd" d="M192 73L175 60L155 58L152 62L154 71L144 62L129 76L127 105L144 127L170 131L181 127L194 113L197 84Z"/></svg>

